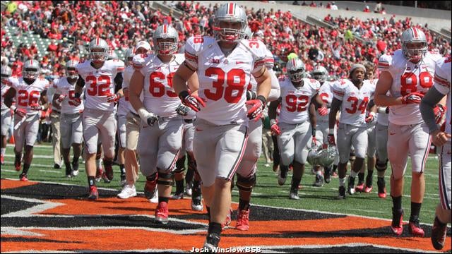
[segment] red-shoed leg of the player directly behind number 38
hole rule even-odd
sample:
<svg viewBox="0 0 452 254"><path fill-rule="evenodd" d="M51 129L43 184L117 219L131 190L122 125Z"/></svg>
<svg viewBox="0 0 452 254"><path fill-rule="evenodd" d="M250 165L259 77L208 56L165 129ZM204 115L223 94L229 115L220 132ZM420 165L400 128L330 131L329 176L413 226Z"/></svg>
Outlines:
<svg viewBox="0 0 452 254"><path fill-rule="evenodd" d="M249 202L256 184L257 160L262 151L262 121L249 122L249 136L245 154L237 169L237 188L239 188L239 210L236 229L249 229Z"/></svg>

